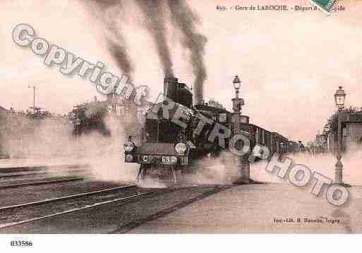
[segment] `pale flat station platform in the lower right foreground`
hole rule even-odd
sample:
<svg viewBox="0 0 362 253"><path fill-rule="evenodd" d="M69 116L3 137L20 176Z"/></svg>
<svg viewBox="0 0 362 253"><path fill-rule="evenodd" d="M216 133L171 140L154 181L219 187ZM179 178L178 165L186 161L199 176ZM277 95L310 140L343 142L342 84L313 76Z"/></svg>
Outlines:
<svg viewBox="0 0 362 253"><path fill-rule="evenodd" d="M287 183L236 185L128 233L361 233L362 220L351 222L361 207L332 206Z"/></svg>

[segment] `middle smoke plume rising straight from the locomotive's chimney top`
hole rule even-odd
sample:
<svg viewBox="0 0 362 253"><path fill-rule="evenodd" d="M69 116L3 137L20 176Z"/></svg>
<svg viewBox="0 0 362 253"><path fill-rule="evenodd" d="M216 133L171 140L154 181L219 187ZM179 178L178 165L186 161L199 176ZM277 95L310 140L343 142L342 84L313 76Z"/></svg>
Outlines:
<svg viewBox="0 0 362 253"><path fill-rule="evenodd" d="M162 2L159 0L137 0L137 3L145 15L145 25L155 41L164 75L169 78L174 77L170 51L166 39L166 25Z"/></svg>

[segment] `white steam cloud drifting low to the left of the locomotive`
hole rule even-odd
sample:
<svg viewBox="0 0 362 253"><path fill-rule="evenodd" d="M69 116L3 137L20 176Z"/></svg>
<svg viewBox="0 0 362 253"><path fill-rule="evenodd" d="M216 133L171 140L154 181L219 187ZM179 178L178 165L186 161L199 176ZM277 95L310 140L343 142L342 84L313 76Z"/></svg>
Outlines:
<svg viewBox="0 0 362 253"><path fill-rule="evenodd" d="M0 153L11 155L8 164L16 165L19 159L41 165L88 164L83 173L92 180L117 183L135 180L137 166L124 163L122 151L125 129L132 135L139 130L132 117L120 119L107 115L104 123L111 131L111 137L104 137L98 131L74 137L73 124L67 118L34 121L13 115L11 118L0 116L0 123L8 136L1 142ZM133 131L129 130L131 127ZM57 176L59 171L53 173Z"/></svg>

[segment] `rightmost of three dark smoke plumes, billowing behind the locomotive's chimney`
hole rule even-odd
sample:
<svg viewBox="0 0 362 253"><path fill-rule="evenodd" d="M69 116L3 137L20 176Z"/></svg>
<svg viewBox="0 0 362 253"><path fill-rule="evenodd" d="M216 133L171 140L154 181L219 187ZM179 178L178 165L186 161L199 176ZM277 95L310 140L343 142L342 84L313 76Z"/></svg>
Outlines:
<svg viewBox="0 0 362 253"><path fill-rule="evenodd" d="M204 63L205 36L196 32L195 23L198 23L198 17L191 11L191 8L185 1L168 0L171 11L171 20L182 32L182 45L191 51L191 65L195 75L195 99L197 102L203 99L204 82L207 77Z"/></svg>

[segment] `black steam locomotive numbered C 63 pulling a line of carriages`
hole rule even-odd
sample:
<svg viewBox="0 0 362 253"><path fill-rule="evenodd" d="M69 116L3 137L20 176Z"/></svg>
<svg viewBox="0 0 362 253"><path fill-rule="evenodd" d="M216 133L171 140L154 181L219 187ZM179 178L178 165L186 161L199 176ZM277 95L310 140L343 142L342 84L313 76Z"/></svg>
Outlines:
<svg viewBox="0 0 362 253"><path fill-rule="evenodd" d="M164 96L146 113L142 142L136 146L133 136L129 135L124 144L125 162L140 164L138 179L145 178L149 171L157 171L159 176L173 174L176 181L177 171L192 171L201 158L208 155L218 157L229 149L232 136L219 140L220 137L215 137L213 131L218 126L217 131L222 128L232 132L236 126L234 113L215 103L202 101L193 105L191 90L177 78L164 78ZM270 154L294 151L296 142L289 142L277 132L249 124L248 120L240 122L239 129L250 141L250 150L255 144L260 144L268 147ZM239 146L241 144L242 141Z"/></svg>

